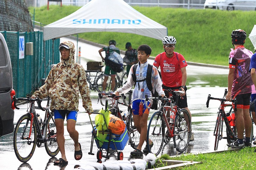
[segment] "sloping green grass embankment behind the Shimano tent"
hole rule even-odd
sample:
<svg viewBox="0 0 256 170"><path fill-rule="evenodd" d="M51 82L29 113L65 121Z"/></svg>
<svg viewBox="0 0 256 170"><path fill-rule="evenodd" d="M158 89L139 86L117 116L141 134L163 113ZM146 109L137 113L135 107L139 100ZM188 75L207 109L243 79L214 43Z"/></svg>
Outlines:
<svg viewBox="0 0 256 170"><path fill-rule="evenodd" d="M47 6L35 8L35 21L50 24L79 8L65 5L62 7L51 5L49 10ZM255 11L137 6L134 8L166 26L168 35L174 36L177 40L175 51L182 54L187 61L220 65L228 65L230 48L233 48L232 30L243 29L249 36L256 18ZM33 13L34 8L29 7L29 11ZM109 40L114 39L117 42L116 46L122 50L125 50L126 42L131 42L134 48L141 44L148 44L152 48L151 56L156 56L163 51L161 40L136 34L95 32L82 33L79 37L105 45L108 45ZM251 51L254 49L249 38L246 39L245 47Z"/></svg>

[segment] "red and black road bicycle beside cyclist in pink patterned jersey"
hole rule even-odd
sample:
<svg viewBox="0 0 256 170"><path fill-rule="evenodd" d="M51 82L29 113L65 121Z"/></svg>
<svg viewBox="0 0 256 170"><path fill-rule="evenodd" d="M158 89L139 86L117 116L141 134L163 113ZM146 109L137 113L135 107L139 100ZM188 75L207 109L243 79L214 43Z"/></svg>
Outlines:
<svg viewBox="0 0 256 170"><path fill-rule="evenodd" d="M219 111L217 112L217 120L216 120L216 123L215 123L214 134L213 134L215 136L214 150L218 149L218 142L221 139L227 139L228 143L233 143L237 140L237 131L236 131L236 126L235 126L235 122L234 122L235 121L234 116L233 117L231 116L232 123L229 122L229 120L228 120L228 116L232 115L231 113L232 113L233 107L232 107L232 104L225 104L225 102L227 101L225 99L227 93L228 93L228 91L227 91L227 89L225 89L223 98L213 98L209 94L208 98L207 98L207 102L206 102L206 107L207 108L209 107L209 101L211 99L212 100L219 100L221 102L221 105L218 108ZM236 105L237 105L236 98L234 100L231 100L231 102L234 103L234 105L235 105L234 110L236 111L237 110L237 108L236 108ZM225 107L231 107L227 114L225 113L225 110L224 110ZM227 137L223 137L223 121L225 122L225 125L226 125ZM233 125L233 126L231 126L231 125ZM252 135L253 135L253 126L252 126L252 129L251 129L251 140L252 140Z"/></svg>

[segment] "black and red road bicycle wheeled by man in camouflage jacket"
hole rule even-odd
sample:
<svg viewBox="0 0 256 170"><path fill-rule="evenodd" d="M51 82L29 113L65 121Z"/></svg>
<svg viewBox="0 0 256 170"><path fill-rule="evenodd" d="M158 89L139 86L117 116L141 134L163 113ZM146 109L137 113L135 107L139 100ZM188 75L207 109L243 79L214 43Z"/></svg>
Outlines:
<svg viewBox="0 0 256 170"><path fill-rule="evenodd" d="M22 115L18 120L13 136L13 147L16 157L21 162L27 162L34 154L35 147L41 147L45 144L46 152L49 156L54 157L59 153L59 147L56 141L56 126L53 118L53 113L49 110L50 98L48 97L47 106L42 107L42 100L39 98L15 98L12 102L16 109L16 101L24 100L29 103L27 113ZM38 120L38 114L35 112L35 101L38 103L38 108L45 111L45 119L42 122ZM28 111L29 110L29 111Z"/></svg>

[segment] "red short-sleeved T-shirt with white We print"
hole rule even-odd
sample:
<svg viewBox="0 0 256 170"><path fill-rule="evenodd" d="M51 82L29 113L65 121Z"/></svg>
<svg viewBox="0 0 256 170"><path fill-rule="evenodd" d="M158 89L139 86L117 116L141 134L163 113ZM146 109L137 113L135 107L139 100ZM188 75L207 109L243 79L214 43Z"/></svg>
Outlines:
<svg viewBox="0 0 256 170"><path fill-rule="evenodd" d="M173 57L168 58L166 53L162 52L156 56L153 65L156 67L161 67L161 75L164 86L178 87L182 85L181 68L186 67L188 64L181 54L173 52Z"/></svg>

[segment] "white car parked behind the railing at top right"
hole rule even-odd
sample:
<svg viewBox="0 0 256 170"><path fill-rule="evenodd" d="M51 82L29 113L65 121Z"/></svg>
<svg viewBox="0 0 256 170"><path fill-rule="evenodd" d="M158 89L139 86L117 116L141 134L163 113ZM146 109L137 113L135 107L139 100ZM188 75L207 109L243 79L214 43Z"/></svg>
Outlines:
<svg viewBox="0 0 256 170"><path fill-rule="evenodd" d="M216 5L217 3L217 5ZM204 9L256 10L256 0L206 0Z"/></svg>

